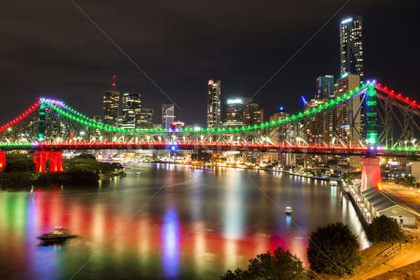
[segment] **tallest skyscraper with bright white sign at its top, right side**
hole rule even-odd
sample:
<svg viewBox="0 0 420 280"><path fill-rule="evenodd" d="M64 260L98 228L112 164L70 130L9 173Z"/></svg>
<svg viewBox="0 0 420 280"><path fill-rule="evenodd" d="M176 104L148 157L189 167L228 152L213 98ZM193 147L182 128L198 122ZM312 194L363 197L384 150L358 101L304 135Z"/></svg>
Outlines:
<svg viewBox="0 0 420 280"><path fill-rule="evenodd" d="M363 81L363 18L346 18L339 25L340 76L352 73Z"/></svg>

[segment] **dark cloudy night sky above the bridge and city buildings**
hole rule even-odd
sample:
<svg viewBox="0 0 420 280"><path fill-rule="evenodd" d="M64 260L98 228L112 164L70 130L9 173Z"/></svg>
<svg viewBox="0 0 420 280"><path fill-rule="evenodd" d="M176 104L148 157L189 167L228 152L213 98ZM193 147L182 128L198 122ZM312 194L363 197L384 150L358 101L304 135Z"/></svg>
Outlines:
<svg viewBox="0 0 420 280"><path fill-rule="evenodd" d="M0 120L38 97L102 115L116 74L120 91L139 92L145 108L169 99L71 1L1 4ZM75 0L179 106L186 123L206 123L207 80L222 96L250 97L345 1ZM420 99L418 1L349 3L255 97L265 118L279 106L302 109L317 76L339 74L339 22L364 17L365 77Z"/></svg>

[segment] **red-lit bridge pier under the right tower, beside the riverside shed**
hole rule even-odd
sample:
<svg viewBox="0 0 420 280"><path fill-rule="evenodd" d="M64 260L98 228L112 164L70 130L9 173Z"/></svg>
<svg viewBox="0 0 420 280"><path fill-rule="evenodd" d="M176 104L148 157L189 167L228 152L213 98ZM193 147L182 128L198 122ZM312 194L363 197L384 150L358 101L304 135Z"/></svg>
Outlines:
<svg viewBox="0 0 420 280"><path fill-rule="evenodd" d="M362 185L360 191L369 188L382 190L381 186L381 165L379 158L362 158Z"/></svg>

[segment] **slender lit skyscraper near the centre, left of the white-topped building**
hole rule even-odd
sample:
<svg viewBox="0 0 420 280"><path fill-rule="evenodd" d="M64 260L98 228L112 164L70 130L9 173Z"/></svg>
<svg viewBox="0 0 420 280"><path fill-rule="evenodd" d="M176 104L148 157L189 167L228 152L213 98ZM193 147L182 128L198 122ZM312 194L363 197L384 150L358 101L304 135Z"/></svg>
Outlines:
<svg viewBox="0 0 420 280"><path fill-rule="evenodd" d="M207 92L207 127L221 126L221 81L209 80Z"/></svg>

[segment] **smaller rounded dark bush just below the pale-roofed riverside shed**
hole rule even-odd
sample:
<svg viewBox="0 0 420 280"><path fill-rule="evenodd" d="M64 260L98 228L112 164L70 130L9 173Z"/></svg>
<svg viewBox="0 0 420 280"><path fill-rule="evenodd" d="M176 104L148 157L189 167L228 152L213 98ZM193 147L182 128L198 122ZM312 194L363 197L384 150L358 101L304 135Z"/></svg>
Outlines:
<svg viewBox="0 0 420 280"><path fill-rule="evenodd" d="M404 239L400 225L393 219L381 215L373 219L367 229L367 238L373 243L378 241L393 241Z"/></svg>

